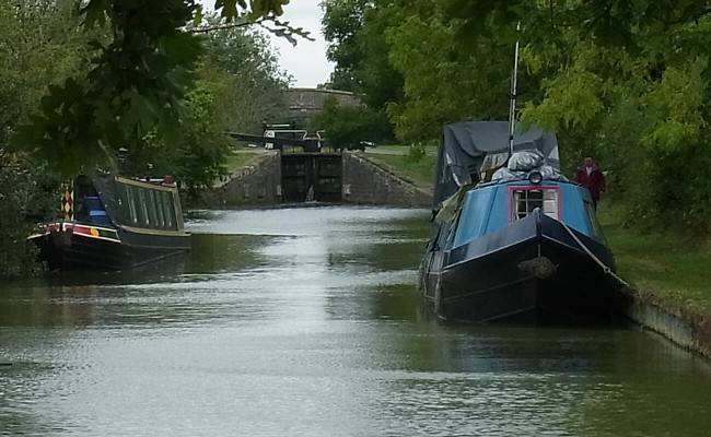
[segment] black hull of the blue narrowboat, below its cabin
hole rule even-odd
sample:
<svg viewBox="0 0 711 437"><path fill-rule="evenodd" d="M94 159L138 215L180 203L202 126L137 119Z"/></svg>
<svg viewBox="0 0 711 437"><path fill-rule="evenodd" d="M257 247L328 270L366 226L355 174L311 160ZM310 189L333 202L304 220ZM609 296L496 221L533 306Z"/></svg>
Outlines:
<svg viewBox="0 0 711 437"><path fill-rule="evenodd" d="M571 233L603 264L614 268L613 256L569 229L536 213L445 252L424 273L426 296L448 320L609 317L615 283Z"/></svg>

